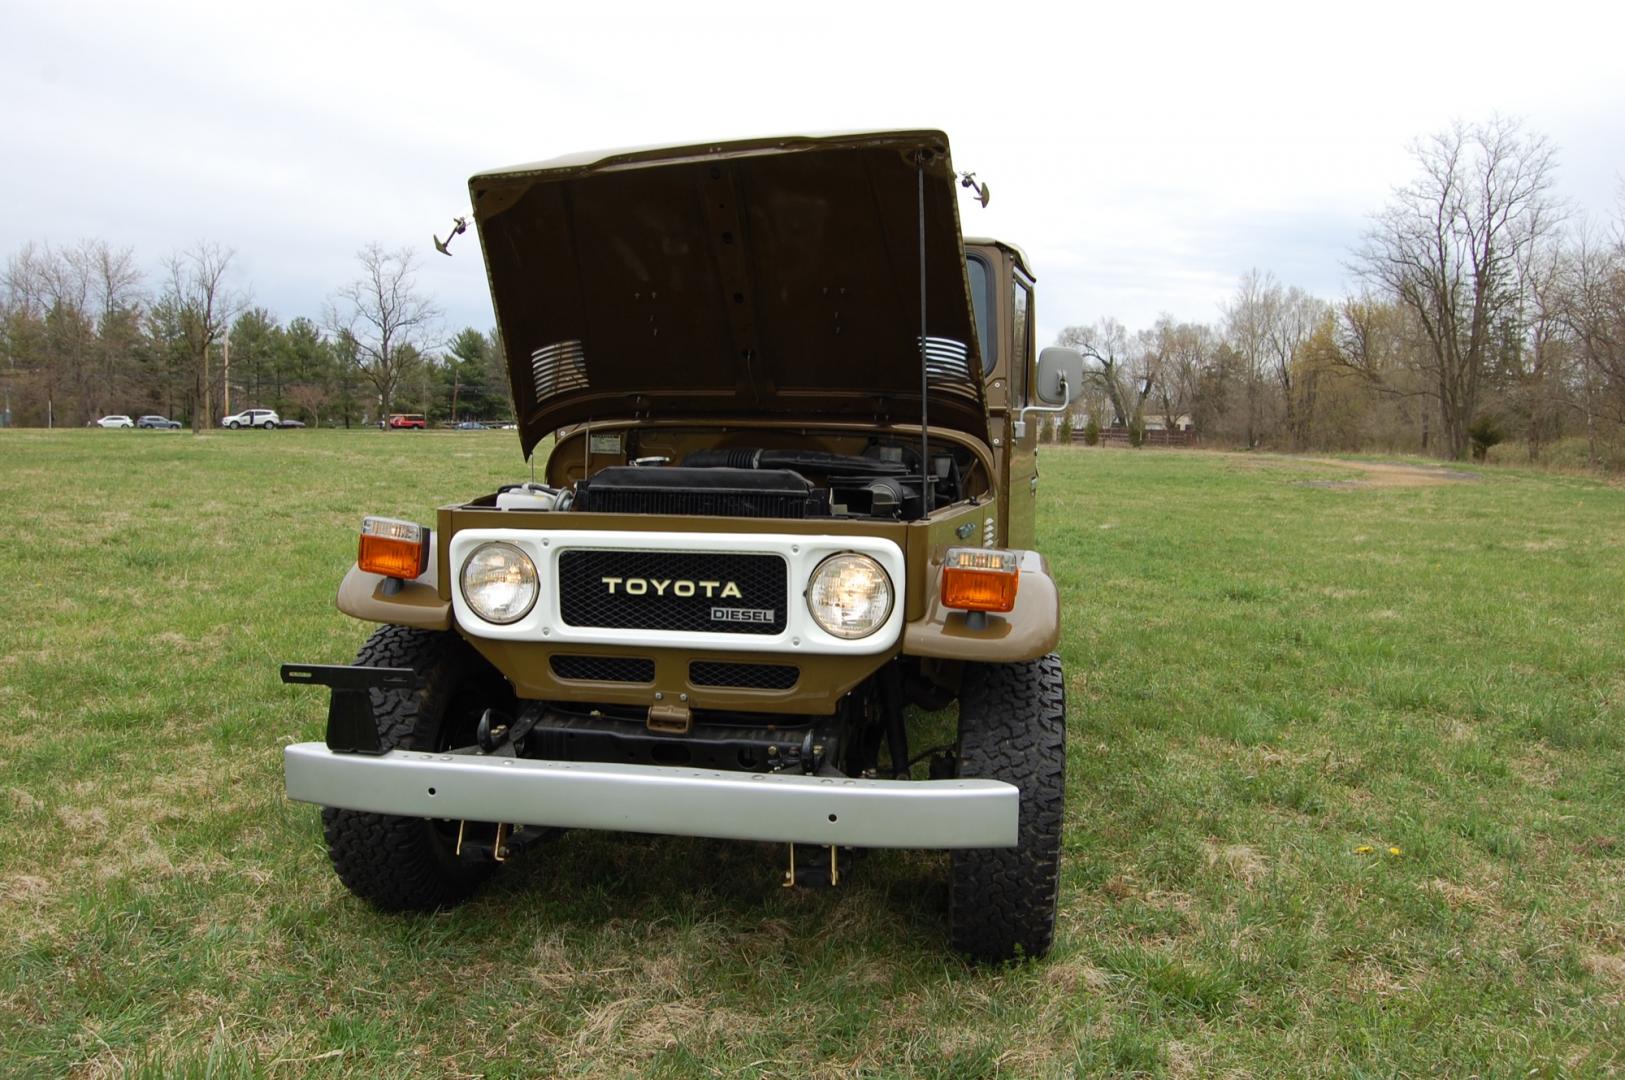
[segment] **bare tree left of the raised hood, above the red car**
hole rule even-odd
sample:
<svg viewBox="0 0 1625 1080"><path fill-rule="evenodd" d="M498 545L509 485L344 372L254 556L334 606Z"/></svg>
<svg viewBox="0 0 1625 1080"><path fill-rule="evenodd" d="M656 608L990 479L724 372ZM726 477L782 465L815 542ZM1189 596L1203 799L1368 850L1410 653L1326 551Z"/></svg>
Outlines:
<svg viewBox="0 0 1625 1080"><path fill-rule="evenodd" d="M440 309L418 292L411 248L385 252L369 244L356 258L361 276L333 294L327 325L354 343L356 369L377 390L387 416L406 369L427 349Z"/></svg>

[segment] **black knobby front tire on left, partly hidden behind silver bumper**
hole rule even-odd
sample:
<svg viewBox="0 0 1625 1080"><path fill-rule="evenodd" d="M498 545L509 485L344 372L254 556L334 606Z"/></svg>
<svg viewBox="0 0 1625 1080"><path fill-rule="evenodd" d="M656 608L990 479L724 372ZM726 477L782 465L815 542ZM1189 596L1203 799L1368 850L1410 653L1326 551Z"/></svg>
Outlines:
<svg viewBox="0 0 1625 1080"><path fill-rule="evenodd" d="M358 664L411 667L422 690L372 690L385 749L447 750L474 742L479 713L512 711L509 684L450 630L380 627ZM466 900L492 869L457 854L457 822L322 807L327 851L340 880L382 911L432 911Z"/></svg>

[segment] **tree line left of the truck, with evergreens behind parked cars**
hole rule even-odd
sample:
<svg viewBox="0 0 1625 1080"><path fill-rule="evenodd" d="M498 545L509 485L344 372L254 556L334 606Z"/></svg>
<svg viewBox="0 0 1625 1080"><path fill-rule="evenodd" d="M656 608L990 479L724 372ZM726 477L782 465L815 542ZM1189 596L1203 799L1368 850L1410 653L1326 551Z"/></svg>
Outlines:
<svg viewBox="0 0 1625 1080"><path fill-rule="evenodd" d="M198 242L148 274L104 240L26 244L0 279L0 421L158 413L202 430L245 408L343 427L390 413L514 417L496 331L439 338L411 250L364 247L320 313L286 323L234 286L232 261Z"/></svg>

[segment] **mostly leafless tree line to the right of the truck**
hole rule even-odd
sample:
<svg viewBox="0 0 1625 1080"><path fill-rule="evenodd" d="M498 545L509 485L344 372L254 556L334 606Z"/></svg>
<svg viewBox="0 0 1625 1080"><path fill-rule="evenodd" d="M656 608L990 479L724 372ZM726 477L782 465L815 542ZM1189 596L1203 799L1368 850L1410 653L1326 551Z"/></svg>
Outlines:
<svg viewBox="0 0 1625 1080"><path fill-rule="evenodd" d="M1414 146L1323 299L1245 273L1214 322L1068 326L1098 377L1068 429L1194 429L1207 445L1401 450L1625 466L1625 205L1597 227L1552 193L1557 153L1519 123Z"/></svg>

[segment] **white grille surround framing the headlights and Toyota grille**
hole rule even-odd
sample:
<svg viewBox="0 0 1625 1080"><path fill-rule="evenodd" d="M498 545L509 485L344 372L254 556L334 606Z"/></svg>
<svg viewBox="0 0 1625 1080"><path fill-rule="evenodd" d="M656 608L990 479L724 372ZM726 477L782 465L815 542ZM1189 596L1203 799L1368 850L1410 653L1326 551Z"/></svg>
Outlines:
<svg viewBox="0 0 1625 1080"><path fill-rule="evenodd" d="M463 598L463 564L476 547L489 542L514 544L536 564L541 594L530 612L512 624L486 622ZM785 560L785 629L780 633L712 633L682 630L629 630L575 627L564 622L559 606L559 557L574 549L770 554ZM812 620L806 604L808 581L830 555L869 555L892 581L892 611L881 627L856 640L837 638ZM622 533L608 529L463 529L452 536L452 611L465 633L504 642L548 642L556 645L635 645L647 648L707 648L730 653L770 653L777 656L868 656L897 645L904 627L904 552L887 539L873 536L803 536L786 533Z"/></svg>

